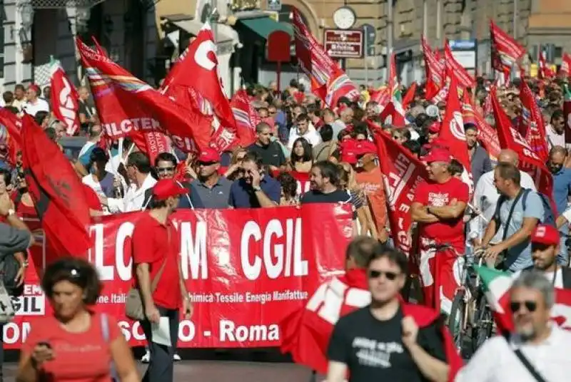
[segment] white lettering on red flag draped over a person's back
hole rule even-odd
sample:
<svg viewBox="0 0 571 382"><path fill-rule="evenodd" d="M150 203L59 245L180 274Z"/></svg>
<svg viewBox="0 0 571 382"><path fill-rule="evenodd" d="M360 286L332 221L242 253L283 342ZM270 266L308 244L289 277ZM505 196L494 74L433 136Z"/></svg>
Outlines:
<svg viewBox="0 0 571 382"><path fill-rule="evenodd" d="M305 305L305 309L315 311L325 321L335 324L339 321L343 305L362 308L367 304L370 304L370 291L349 288L347 284L334 277L330 282L320 285Z"/></svg>

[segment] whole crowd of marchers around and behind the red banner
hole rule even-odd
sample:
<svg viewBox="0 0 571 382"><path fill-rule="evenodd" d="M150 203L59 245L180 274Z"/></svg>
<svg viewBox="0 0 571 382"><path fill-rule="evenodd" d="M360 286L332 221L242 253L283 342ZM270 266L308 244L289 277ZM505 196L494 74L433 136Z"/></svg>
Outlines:
<svg viewBox="0 0 571 382"><path fill-rule="evenodd" d="M498 91L514 125L522 118L517 81L524 80L518 79ZM553 305L552 286L571 285L565 242L571 221L571 210L567 209L571 161L565 149L562 81L546 81L541 86L530 78L525 81L529 81L535 91L546 122L550 149L547 168L554 181L553 195L547 196L555 201L554 207L545 202L546 195L537 192L530 175L518 169L517 153L502 150L497 158L490 158L479 143L478 128L473 124L464 126L472 167L468 170L473 179L473 185L468 185L462 176L463 166L452 158L447 148L438 145L446 104L436 105L440 113L429 113L430 103L424 99L422 86L418 86L405 110L404 127L380 120L382 106L370 100L365 87L361 89L359 100L342 97L335 108L325 108L321 100L306 93L297 81L292 81L281 92L276 89L276 83L270 83L267 88L248 88L251 103L262 121L256 125L256 141L252 145L225 153L211 148L191 154L171 150L160 153L153 162L128 138L113 142L109 150L100 147L103 129L89 90L80 88L79 135L86 138L86 143L77 158L69 160L84 184L91 215L148 210L148 215L133 232L136 284L146 306L146 317L141 325L149 342L144 357L150 362L145 381L172 381L173 358L178 357L175 346L164 349L153 344L150 324L160 316L168 316L171 337L176 338L179 310L187 316L192 312L181 281L176 249L171 244L174 227L169 215L185 208L273 208L308 203L350 205L354 236L368 236L373 240L368 244L367 258L358 261L367 274L372 302L335 326L328 351L328 381L343 381L347 371L351 381L389 375L391 381L446 380L449 367L443 345L439 344L440 337L432 326L419 331L418 324L403 314L408 308L401 306L398 299L398 292L408 276L408 260L402 253L389 249L393 237L380 170L380 162L385 158L378 156L370 123L381 126L395 145L410 150L427 167L430 180L418 185L410 209L412 220L418 225L423 282L431 277L423 261L434 255L434 252L429 255L434 251L430 247L434 242L451 244L455 252L448 258L451 262L458 254L470 256L481 248L490 267L524 271L511 295L517 336L507 341L512 347L523 344L522 353L530 358L530 363L545 373L546 378L550 377L545 381L562 381L563 376L557 374L559 371L552 371L554 363L550 363L560 362L559 358L547 360L547 356L534 355L545 351L544 345L552 346L556 354L562 354L560 349L568 346L566 332L550 329L546 319L546 312ZM493 126L493 115L483 108L490 86L490 81L478 78L473 94L478 112ZM33 115L55 143L64 138L65 125L50 112L46 89L42 96L38 86L31 85L26 91L19 85L14 93L4 93L3 98L4 108L14 114ZM16 254L16 277L21 284L27 267L24 254L34 239L19 217L37 215L27 190L21 155L17 156L15 165L9 165L7 158L6 143L0 142L0 215L12 227L0 224L0 236L6 237L9 243L4 244L2 240L0 253L4 257ZM299 174L308 177L310 190L301 190ZM153 245L149 245L149 237L153 238ZM530 268L535 270L527 271ZM542 279L538 274L545 277ZM458 284L453 271L442 277L450 280L448 284ZM156 287L156 279L169 282ZM78 259L61 260L46 269L42 287L56 316L46 319L44 327L32 329L22 349L19 381L39 381L40 372L51 375L54 381L80 376L82 372L94 373L95 369L103 376L111 361L121 381L135 381L132 356L119 335L116 322L112 317L94 314L87 307L96 301L99 291L91 266ZM446 293L433 291L425 294L424 301L446 313L445 301L439 301L446 298ZM402 337L398 335L401 325ZM100 331L106 332L105 338L97 336ZM44 341L56 332L67 341L66 349L54 349ZM373 332L374 338L371 338ZM81 342L85 336L78 336L82 333L93 337L89 337L94 341L93 349L110 349L104 355L101 353L101 357L95 353L89 357L89 360L97 358L97 365L84 368L88 358L76 357L76 350L87 346L87 342ZM363 346L354 345L358 339ZM378 350L368 349L371 341L378 344ZM488 371L473 366L475 361L472 361L460 372L459 381L475 381L474 378L499 381L506 368L502 371L502 358L495 354L511 349L506 345L508 342L500 344L500 341L490 340L474 357L474 360L480 359L479 365L489 366ZM69 357L62 359L62 352L69 352ZM517 361L515 355L510 357L505 362ZM526 380L523 375L518 379Z"/></svg>

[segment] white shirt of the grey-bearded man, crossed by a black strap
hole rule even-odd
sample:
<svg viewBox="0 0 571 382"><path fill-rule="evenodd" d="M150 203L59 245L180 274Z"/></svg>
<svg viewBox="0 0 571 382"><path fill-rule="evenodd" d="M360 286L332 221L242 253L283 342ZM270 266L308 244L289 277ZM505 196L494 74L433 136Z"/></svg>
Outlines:
<svg viewBox="0 0 571 382"><path fill-rule="evenodd" d="M514 335L488 339L455 378L455 382L537 382L517 358L521 349L537 373L547 382L570 381L571 332L552 325L551 334L541 344L522 344Z"/></svg>

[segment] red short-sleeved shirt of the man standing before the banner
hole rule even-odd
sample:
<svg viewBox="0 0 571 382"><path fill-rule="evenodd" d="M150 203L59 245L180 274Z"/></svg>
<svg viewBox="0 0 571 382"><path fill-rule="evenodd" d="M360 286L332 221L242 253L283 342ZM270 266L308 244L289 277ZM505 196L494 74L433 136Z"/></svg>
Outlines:
<svg viewBox="0 0 571 382"><path fill-rule="evenodd" d="M163 273L153 292L153 301L166 309L178 309L182 301L178 274L180 248L176 229L171 220L167 220L166 225L163 225L149 213L143 213L133 229L131 248L135 265L134 279L136 279L136 266L148 264L152 284L164 263Z"/></svg>

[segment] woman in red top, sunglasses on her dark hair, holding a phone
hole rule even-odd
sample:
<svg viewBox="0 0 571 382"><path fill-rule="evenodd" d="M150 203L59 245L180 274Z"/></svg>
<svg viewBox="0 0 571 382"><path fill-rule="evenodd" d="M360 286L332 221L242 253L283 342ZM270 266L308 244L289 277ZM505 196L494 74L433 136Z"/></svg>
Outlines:
<svg viewBox="0 0 571 382"><path fill-rule="evenodd" d="M140 381L131 349L116 319L96 313L101 283L84 259L66 257L47 267L41 287L54 309L31 324L22 345L17 381Z"/></svg>

